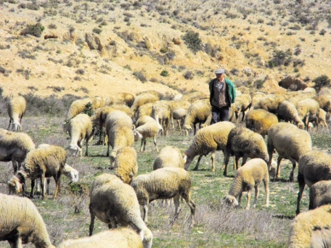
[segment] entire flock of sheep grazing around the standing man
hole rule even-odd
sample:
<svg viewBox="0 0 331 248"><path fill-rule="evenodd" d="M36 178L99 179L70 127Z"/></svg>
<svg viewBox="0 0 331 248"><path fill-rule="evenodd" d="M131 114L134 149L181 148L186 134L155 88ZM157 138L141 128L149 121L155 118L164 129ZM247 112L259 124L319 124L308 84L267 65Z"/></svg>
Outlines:
<svg viewBox="0 0 331 248"><path fill-rule="evenodd" d="M86 107L94 110L92 116L83 114ZM176 220L180 211L180 197L191 210L191 225L194 225L196 206L190 196L191 179L187 170L195 156L199 156L193 170L199 168L202 156L212 154L212 172L215 170L215 152L224 154L224 176L230 156L234 156L234 176L223 204L240 205L243 192L247 192L246 209L250 208L250 195L254 188L254 203L257 204L259 185L265 187L265 206L269 205L269 177L279 177L283 158L292 163L290 181L294 181L294 169L298 163L299 193L297 214L305 184L310 187L310 209L295 218L290 229L290 247L319 247L331 245L331 156L312 150L308 131L319 125L328 128L326 116L331 112L327 95L317 95L312 89L290 92L285 95L263 93L239 94L230 108L230 120L210 124L211 113L208 95L201 92L186 94L180 99L159 101L159 93L153 90L137 96L120 93L110 99L99 97L74 101L63 123L63 131L70 136L66 149L56 145L41 144L35 147L32 138L21 131L21 119L26 109L23 96L10 98L8 130L0 129L0 161L12 161L13 176L8 181L9 194L26 191L25 183L31 180L30 196L34 185L41 187L45 197L45 182L50 177L56 182L54 198L57 197L61 175L77 182L78 172L66 164L66 150L71 155L82 156L83 141L88 143L99 130L99 143L107 144L107 156L114 174L101 174L94 178L90 194L90 238L67 240L59 247L152 247L152 231L148 222L148 205L157 199L173 199ZM245 127L238 125L245 121ZM167 135L174 120L186 134L194 130L194 140L181 154L177 147L163 147L159 152L157 136ZM281 122L281 121L284 122ZM236 124L237 123L237 126ZM199 124L199 131L197 125ZM105 131L103 137L102 130ZM12 131L9 131L12 130ZM268 135L268 142L264 137ZM132 147L141 138L140 152L145 151L146 141L153 138L159 155L155 158L153 171L137 175L137 152ZM112 151L110 152L110 146ZM272 154L277 152L275 163ZM239 158L243 158L239 167ZM250 161L246 163L248 158ZM46 194L49 194L48 187ZM238 200L237 200L238 198ZM141 216L140 205L143 206ZM325 205L320 207L321 205ZM13 218L13 209L21 215ZM321 214L322 213L322 214ZM320 218L319 215L325 216ZM92 236L94 219L97 217L110 228ZM303 225L303 223L305 223ZM121 226L117 229L118 225ZM130 225L132 229L127 227ZM27 198L0 194L0 240L8 240L11 247L32 242L36 247L53 247L46 226L37 208ZM101 241L97 241L101 240ZM316 245L316 246L315 246Z"/></svg>

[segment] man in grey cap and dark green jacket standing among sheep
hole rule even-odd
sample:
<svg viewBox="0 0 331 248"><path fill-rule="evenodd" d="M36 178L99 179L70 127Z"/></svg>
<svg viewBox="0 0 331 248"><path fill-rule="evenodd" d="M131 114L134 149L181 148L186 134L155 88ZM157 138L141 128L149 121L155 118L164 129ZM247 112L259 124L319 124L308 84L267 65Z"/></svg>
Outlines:
<svg viewBox="0 0 331 248"><path fill-rule="evenodd" d="M229 79L224 78L225 70L215 70L216 79L209 83L210 105L212 105L212 121L210 124L219 121L228 121L229 108L236 98L236 90Z"/></svg>

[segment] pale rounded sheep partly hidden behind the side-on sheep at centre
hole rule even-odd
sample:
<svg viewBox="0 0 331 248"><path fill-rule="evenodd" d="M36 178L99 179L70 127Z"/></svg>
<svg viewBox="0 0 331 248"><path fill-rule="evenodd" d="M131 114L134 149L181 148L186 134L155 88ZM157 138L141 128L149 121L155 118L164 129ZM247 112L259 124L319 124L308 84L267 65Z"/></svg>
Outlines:
<svg viewBox="0 0 331 248"><path fill-rule="evenodd" d="M153 169L155 170L164 167L184 167L183 156L181 156L181 151L177 147L163 147L161 152L155 158Z"/></svg>

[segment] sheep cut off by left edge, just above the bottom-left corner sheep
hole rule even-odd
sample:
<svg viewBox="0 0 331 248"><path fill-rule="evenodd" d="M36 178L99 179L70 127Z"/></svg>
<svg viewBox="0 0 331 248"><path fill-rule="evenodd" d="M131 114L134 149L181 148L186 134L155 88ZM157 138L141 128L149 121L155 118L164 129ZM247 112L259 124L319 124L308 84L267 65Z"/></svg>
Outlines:
<svg viewBox="0 0 331 248"><path fill-rule="evenodd" d="M10 132L0 128L0 161L12 161L14 174L26 159L26 154L35 148L32 138L28 134Z"/></svg>

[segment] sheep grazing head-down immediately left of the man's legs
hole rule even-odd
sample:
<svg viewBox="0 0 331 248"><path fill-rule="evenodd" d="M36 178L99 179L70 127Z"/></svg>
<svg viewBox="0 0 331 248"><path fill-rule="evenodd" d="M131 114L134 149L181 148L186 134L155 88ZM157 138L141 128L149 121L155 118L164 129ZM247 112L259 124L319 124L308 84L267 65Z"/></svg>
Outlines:
<svg viewBox="0 0 331 248"><path fill-rule="evenodd" d="M201 128L203 123L209 125L211 116L211 107L209 101L200 100L192 103L184 120L185 134L188 135L188 131L192 129L191 125L193 125L195 135L197 133L197 123L199 123L199 128Z"/></svg>

